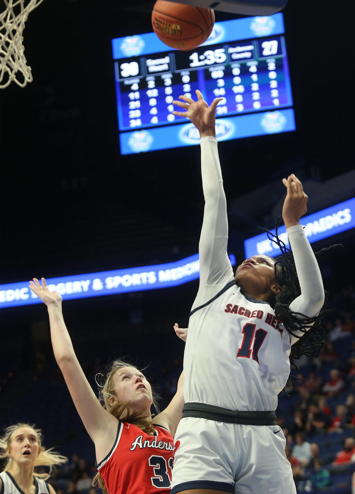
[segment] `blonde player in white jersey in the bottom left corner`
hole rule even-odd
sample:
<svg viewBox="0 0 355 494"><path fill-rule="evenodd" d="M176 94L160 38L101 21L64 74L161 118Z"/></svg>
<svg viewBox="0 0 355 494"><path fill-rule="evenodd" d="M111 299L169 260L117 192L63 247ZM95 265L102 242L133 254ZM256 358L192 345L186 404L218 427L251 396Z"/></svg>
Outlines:
<svg viewBox="0 0 355 494"><path fill-rule="evenodd" d="M46 481L49 473L34 471L37 465L60 465L65 456L42 446L42 433L29 424L19 423L5 429L0 439L0 459L7 459L0 473L0 494L55 494Z"/></svg>

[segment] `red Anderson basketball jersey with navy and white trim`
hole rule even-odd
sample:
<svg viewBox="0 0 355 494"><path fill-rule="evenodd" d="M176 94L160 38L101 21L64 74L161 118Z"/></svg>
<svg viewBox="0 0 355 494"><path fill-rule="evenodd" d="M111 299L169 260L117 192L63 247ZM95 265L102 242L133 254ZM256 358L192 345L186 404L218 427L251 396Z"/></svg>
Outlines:
<svg viewBox="0 0 355 494"><path fill-rule="evenodd" d="M169 494L174 438L161 425L150 436L136 425L119 422L111 451L97 465L109 494Z"/></svg>

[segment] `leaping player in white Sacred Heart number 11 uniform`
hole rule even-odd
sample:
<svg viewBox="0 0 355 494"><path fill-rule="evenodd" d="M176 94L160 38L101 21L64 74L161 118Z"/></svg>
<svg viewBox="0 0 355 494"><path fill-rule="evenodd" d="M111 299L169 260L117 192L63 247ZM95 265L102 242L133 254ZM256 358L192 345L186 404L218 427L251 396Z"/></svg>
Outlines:
<svg viewBox="0 0 355 494"><path fill-rule="evenodd" d="M306 330L324 303L319 267L300 225L308 197L295 175L283 179L287 195L282 217L295 270L290 254L284 254L277 269L272 258L255 255L234 275L227 256L226 200L215 137L220 98L208 107L202 94L196 94L198 101L185 96L180 96L183 102L174 101L186 110L175 115L186 116L200 131L205 209L171 493L294 494L286 440L274 411L290 373L291 345L297 346L303 335L307 340ZM299 296L285 305L293 292L290 285L298 282ZM311 331L310 345L319 346L316 331Z"/></svg>

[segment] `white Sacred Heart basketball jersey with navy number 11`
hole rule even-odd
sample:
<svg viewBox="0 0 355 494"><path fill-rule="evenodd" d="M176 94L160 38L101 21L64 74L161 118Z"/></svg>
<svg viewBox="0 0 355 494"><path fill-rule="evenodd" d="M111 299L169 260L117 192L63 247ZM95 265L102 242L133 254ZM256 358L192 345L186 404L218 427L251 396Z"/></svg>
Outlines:
<svg viewBox="0 0 355 494"><path fill-rule="evenodd" d="M244 296L234 281L226 287L190 316L185 402L274 411L290 373L289 333L269 304Z"/></svg>

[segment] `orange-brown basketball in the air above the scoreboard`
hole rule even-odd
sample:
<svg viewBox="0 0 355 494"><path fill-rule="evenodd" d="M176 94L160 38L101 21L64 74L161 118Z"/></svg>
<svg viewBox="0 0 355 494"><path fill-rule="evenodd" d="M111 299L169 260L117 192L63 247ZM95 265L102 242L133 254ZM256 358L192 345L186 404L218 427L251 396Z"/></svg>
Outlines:
<svg viewBox="0 0 355 494"><path fill-rule="evenodd" d="M212 33L214 23L212 8L158 0L152 12L154 33L163 43L178 50L202 44Z"/></svg>

